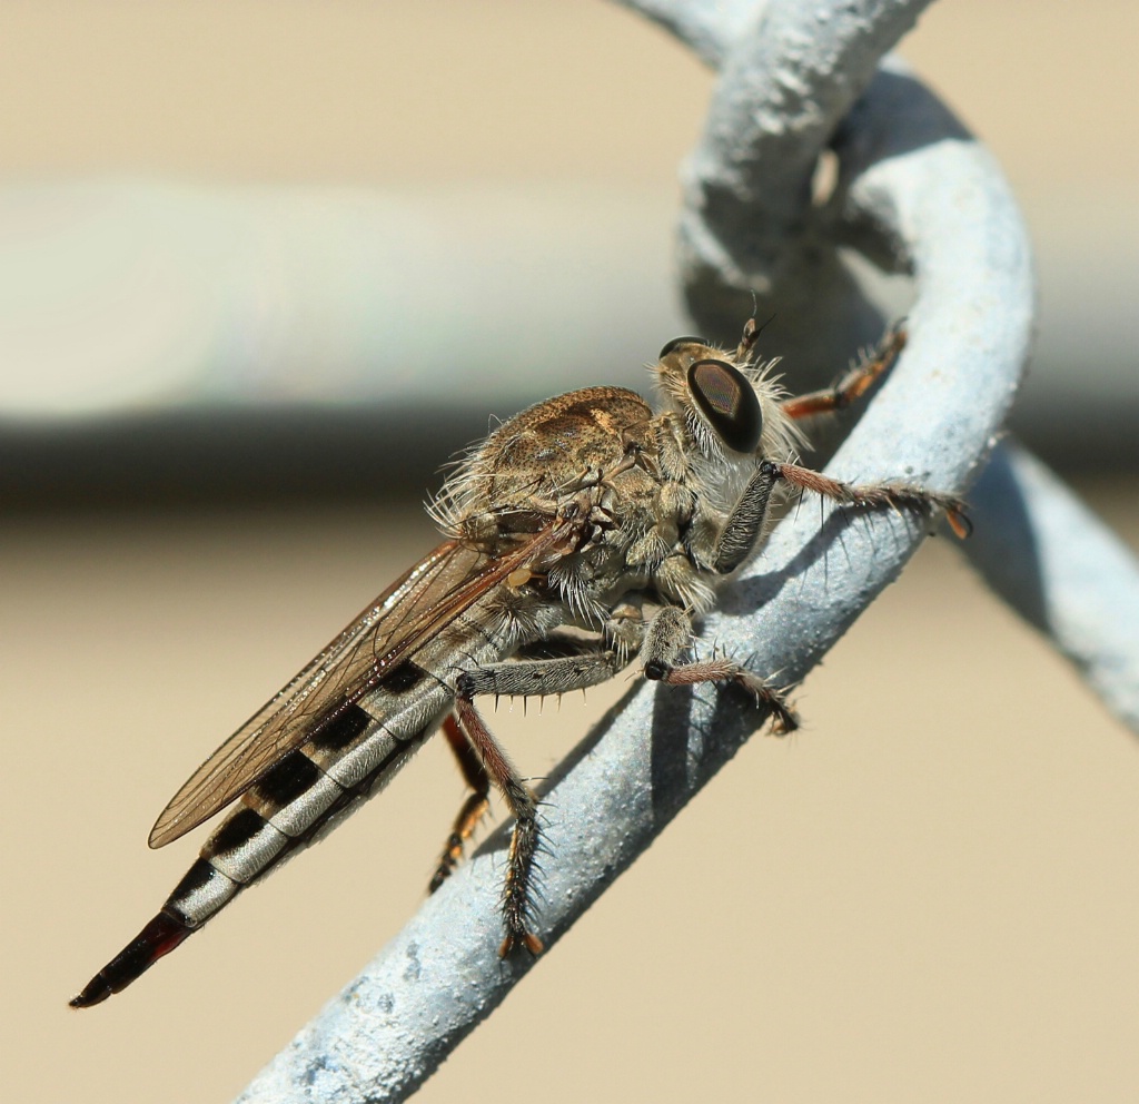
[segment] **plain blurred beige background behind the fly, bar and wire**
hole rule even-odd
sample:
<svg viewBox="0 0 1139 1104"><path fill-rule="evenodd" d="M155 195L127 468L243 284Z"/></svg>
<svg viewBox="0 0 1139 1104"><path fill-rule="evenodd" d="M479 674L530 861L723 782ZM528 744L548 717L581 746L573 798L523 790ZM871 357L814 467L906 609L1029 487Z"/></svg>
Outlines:
<svg viewBox="0 0 1139 1104"><path fill-rule="evenodd" d="M957 0L906 43L1054 240L1133 232L1096 212L1139 180L1134 21ZM710 89L599 2L0 8L19 180L600 186L667 219ZM1134 477L1085 486L1139 545ZM415 909L461 800L442 746L128 993L66 1008L192 858L146 850L170 794L431 542L403 499L3 520L6 1099L229 1099ZM540 775L620 689L495 730ZM420 1099L1133 1096L1134 737L941 542L798 703L804 730L746 747Z"/></svg>

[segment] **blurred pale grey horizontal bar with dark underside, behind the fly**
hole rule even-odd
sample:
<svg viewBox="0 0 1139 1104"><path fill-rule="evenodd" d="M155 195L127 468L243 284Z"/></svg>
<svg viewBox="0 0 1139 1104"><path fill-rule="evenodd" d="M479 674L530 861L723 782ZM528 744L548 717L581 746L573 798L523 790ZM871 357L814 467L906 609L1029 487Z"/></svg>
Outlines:
<svg viewBox="0 0 1139 1104"><path fill-rule="evenodd" d="M1130 208L1064 210L1036 234L1044 320L1013 425L1062 469L1134 468L1137 277L1107 232ZM667 188L8 185L0 501L370 493L376 468L418 492L489 417L644 387L688 328L673 220ZM843 367L796 363L778 316L765 341L794 386Z"/></svg>

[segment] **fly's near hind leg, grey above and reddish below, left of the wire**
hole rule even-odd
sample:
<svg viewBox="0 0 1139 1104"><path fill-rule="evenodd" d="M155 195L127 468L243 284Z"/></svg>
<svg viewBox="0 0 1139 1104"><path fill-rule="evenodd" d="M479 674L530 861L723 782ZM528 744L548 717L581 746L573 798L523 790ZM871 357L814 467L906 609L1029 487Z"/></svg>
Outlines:
<svg viewBox="0 0 1139 1104"><path fill-rule="evenodd" d="M514 834L510 837L506 885L502 890L506 938L499 954L503 957L519 943L532 955L542 950L542 941L530 931L534 856L539 841L538 802L483 723L475 710L474 698L485 694L562 694L583 689L612 678L622 665L616 652L597 647L551 660L489 663L459 677L454 695L459 725L478 753L483 769L498 786L514 815Z"/></svg>

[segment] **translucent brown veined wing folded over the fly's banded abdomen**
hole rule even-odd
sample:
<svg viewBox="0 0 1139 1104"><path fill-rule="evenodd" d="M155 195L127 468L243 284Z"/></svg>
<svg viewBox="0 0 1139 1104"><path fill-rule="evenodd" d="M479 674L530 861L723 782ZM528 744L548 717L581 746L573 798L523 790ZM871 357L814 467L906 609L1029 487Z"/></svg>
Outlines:
<svg viewBox="0 0 1139 1104"><path fill-rule="evenodd" d="M511 572L557 545L550 524L493 557L446 541L372 602L295 678L253 714L186 782L150 829L161 848L240 796L284 755L374 689L410 652Z"/></svg>

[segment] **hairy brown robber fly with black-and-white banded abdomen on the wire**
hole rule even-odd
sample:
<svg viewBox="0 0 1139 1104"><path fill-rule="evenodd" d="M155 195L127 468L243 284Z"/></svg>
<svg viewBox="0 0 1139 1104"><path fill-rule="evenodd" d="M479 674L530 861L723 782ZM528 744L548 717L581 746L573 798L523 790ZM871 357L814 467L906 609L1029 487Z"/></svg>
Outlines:
<svg viewBox="0 0 1139 1104"><path fill-rule="evenodd" d="M484 695L583 689L634 662L647 679L741 687L796 727L784 694L729 656L694 657L690 618L763 543L772 505L810 491L854 507L947 512L903 483L852 486L795 463L798 423L862 395L903 344L887 337L835 387L792 398L755 355L679 337L653 368L657 410L621 387L540 402L476 447L432 506L444 540L214 752L150 832L161 848L232 802L157 916L72 1000L129 986L249 883L378 792L437 728L470 795L431 889L460 859L491 785L514 816L500 954L542 950L533 931L533 793L483 722Z"/></svg>

